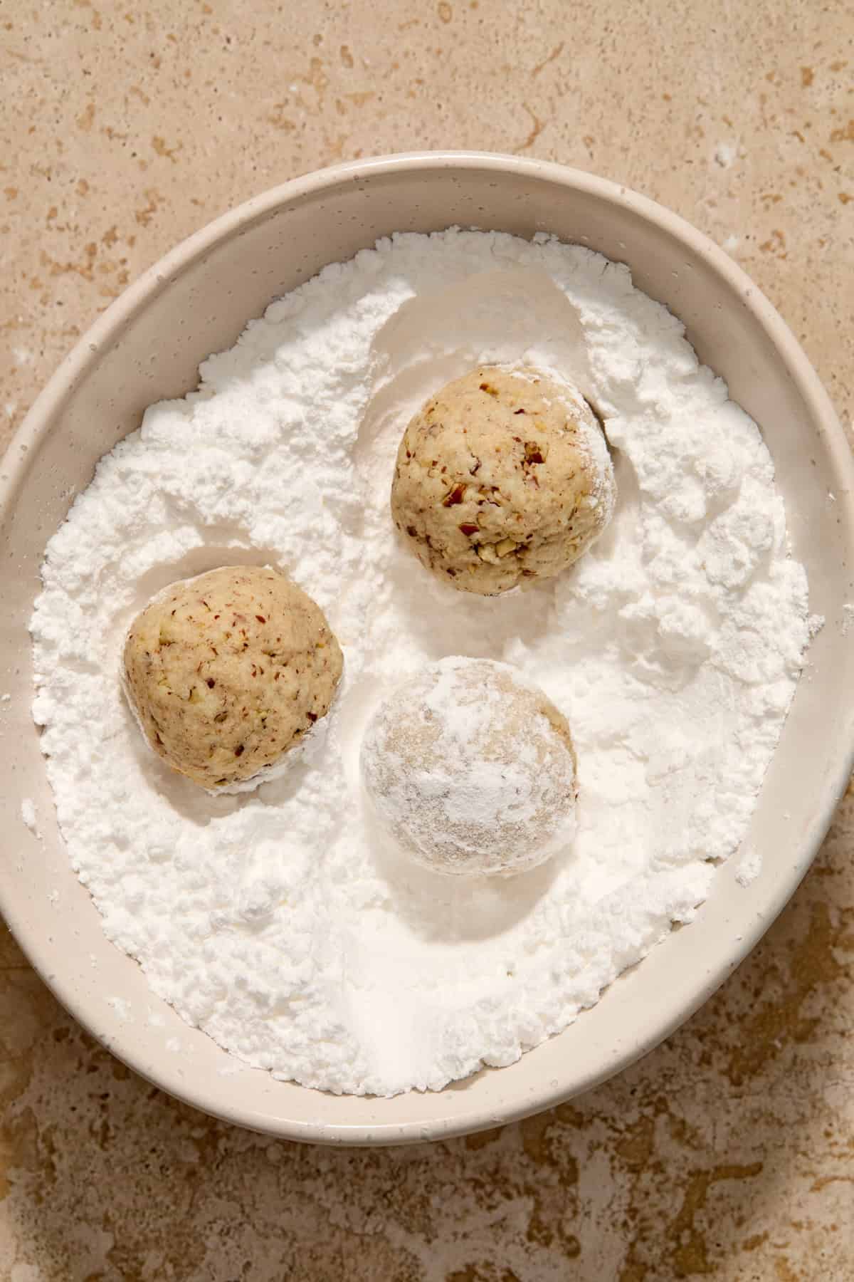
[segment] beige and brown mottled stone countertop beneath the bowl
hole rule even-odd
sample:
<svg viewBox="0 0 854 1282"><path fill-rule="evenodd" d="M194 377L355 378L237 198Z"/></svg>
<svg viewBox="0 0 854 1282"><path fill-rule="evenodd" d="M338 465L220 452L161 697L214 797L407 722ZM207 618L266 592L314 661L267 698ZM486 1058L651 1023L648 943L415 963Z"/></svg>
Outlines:
<svg viewBox="0 0 854 1282"><path fill-rule="evenodd" d="M562 160L679 210L854 408L844 0L0 0L0 445L181 237L371 153ZM849 208L850 206L850 208ZM854 1278L854 796L721 992L519 1126L342 1153L166 1099L0 936L0 1278Z"/></svg>

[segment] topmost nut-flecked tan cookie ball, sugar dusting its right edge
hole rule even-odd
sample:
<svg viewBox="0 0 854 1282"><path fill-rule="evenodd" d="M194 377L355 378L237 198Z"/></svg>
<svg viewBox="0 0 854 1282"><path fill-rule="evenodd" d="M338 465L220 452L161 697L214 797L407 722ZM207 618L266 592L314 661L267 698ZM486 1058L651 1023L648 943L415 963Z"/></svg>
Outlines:
<svg viewBox="0 0 854 1282"><path fill-rule="evenodd" d="M397 453L392 515L463 592L551 578L611 520L616 485L584 397L529 368L484 365L437 392Z"/></svg>

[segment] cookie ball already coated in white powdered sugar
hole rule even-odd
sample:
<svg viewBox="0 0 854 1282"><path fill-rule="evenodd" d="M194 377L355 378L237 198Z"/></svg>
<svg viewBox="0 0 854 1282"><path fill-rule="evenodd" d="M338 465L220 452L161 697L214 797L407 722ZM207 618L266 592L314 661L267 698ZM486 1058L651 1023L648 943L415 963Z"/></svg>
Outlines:
<svg viewBox="0 0 854 1282"><path fill-rule="evenodd" d="M437 873L521 873L575 836L570 728L545 695L489 659L442 659L374 713L361 772L376 814Z"/></svg>

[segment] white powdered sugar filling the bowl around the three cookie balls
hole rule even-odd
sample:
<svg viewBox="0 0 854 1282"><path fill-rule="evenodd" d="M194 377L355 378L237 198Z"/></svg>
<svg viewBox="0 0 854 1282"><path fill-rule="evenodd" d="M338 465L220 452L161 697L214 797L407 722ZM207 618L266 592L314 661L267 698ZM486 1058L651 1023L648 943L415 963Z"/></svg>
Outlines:
<svg viewBox="0 0 854 1282"><path fill-rule="evenodd" d="M394 453L435 388L524 360L604 417L617 512L560 578L469 597L394 536ZM149 753L118 665L152 592L236 562L318 601L344 677L291 772L210 797ZM223 1046L332 1091L511 1063L690 920L808 642L755 424L626 268L543 236L397 236L274 303L101 460L42 578L35 718L108 936ZM380 697L451 654L517 665L572 731L577 836L516 878L416 868L362 799Z"/></svg>

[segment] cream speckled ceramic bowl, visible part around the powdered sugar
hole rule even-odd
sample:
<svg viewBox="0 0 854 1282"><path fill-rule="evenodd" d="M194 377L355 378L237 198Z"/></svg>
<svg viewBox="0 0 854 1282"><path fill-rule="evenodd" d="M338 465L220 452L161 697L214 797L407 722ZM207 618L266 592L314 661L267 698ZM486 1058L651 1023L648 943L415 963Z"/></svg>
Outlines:
<svg viewBox="0 0 854 1282"><path fill-rule="evenodd" d="M699 356L764 433L812 609L826 624L757 805L752 840L763 865L748 888L734 867L722 867L694 924L517 1064L439 1094L337 1097L241 1069L155 997L140 967L106 941L52 817L29 714L27 622L47 538L96 460L138 426L146 405L187 392L204 356L230 346L274 296L325 263L393 231L453 223L521 236L549 231L589 245L627 263L635 283L686 323ZM293 1140L393 1144L476 1131L566 1100L650 1050L717 988L825 836L854 746L854 646L842 629L842 605L854 601L853 482L831 404L773 308L709 240L625 187L539 162L431 153L341 165L259 196L184 241L109 308L60 365L3 464L0 692L12 699L0 704L0 909L59 1000L115 1055L228 1120ZM36 803L41 841L22 822L24 797ZM161 1027L145 1017L152 1008ZM175 1036L181 1054L166 1050Z"/></svg>

